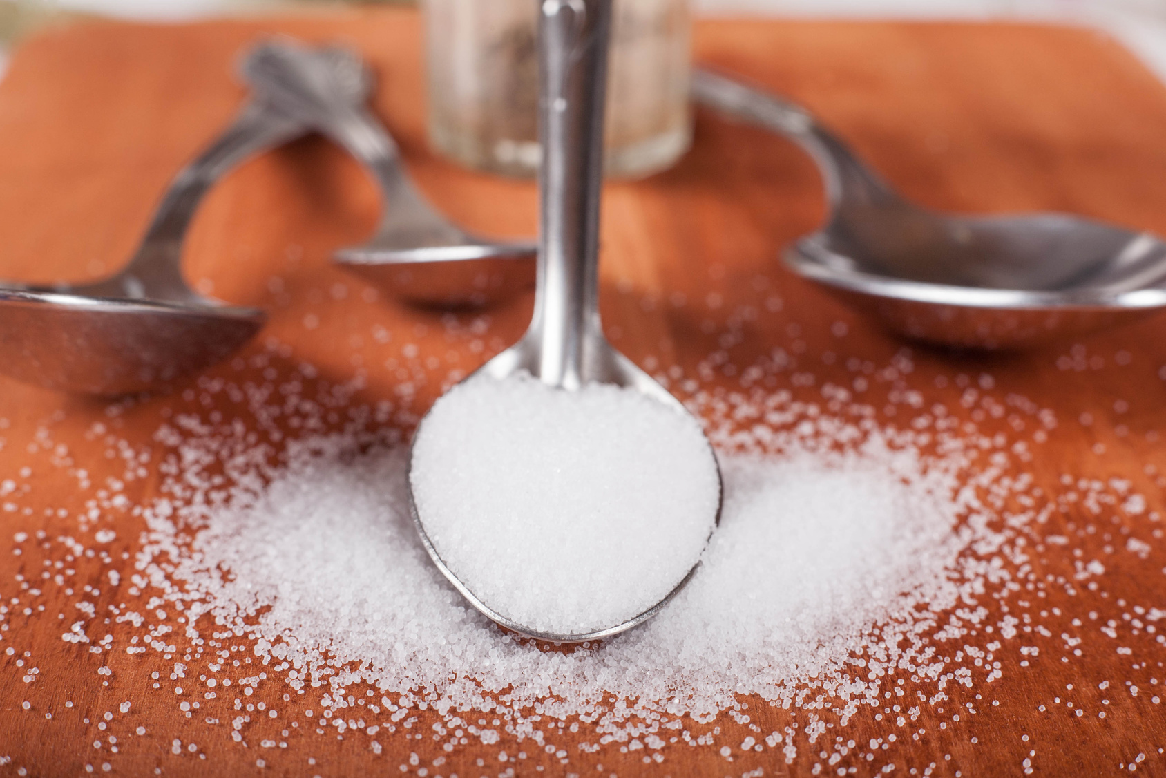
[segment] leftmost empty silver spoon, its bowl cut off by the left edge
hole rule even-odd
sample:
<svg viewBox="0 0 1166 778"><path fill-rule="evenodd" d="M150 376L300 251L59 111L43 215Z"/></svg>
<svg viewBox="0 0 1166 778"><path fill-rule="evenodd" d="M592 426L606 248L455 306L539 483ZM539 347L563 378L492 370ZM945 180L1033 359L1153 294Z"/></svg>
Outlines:
<svg viewBox="0 0 1166 778"><path fill-rule="evenodd" d="M243 71L246 75L247 59ZM264 325L182 278L182 243L203 196L247 157L309 132L257 92L234 122L183 168L141 245L115 275L91 283L0 288L0 371L91 394L155 388L234 352Z"/></svg>

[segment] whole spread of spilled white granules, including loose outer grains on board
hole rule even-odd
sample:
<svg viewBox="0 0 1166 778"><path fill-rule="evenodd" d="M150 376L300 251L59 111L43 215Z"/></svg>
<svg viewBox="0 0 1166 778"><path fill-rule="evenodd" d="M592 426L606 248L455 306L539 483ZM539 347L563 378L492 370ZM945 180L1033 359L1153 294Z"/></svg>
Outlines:
<svg viewBox="0 0 1166 778"><path fill-rule="evenodd" d="M702 331L712 329L702 324ZM796 337L793 325L788 331ZM494 339L490 348L503 348ZM288 358L292 352L275 343L271 353ZM789 353L796 353L796 344ZM507 752L525 744L535 752L547 749L562 764L586 761L574 748L570 754L560 748L566 744L559 736L569 724L570 733L590 741L578 747L588 755L648 748L660 762L663 751L655 749L700 745L710 755L729 748L726 758L737 761L753 758L733 751L745 751L752 742L753 751L773 749L761 758L774 765L782 758L799 763L798 772L807 771L806 759L821 758L809 772L881 775L898 764L913 775L926 773L930 768L925 763L911 766L928 758L912 748L925 735L922 728L913 735L904 730L901 737L887 729L906 727L916 715L950 715L939 729L957 734L962 728L967 738L970 717L1004 713L1004 706L990 705L992 695L981 701L976 692L995 691L1002 677L1016 682L1014 659L1009 658L1014 652L1024 657L1020 667L1048 661L1059 670L1062 663L1076 663L1082 649L1112 656L1118 643L1121 661L1128 663L1131 653L1137 660L1140 652L1143 670L1135 661L1132 673L1124 671L1130 678L1123 679L1131 694L1112 707L1109 700L1102 705L1108 710L1123 703L1159 705L1159 696L1145 692L1158 691L1149 673L1159 674L1146 670L1154 654L1145 646L1154 651L1166 645L1166 635L1154 626L1166 618L1156 607L1160 603L1128 607L1116 600L1132 614L1104 626L1097 610L1089 610L1110 597L1114 570L1142 561L1138 551L1144 548L1129 544L1126 530L1137 528L1137 537L1156 548L1163 538L1160 517L1147 511L1131 482L1065 474L1055 484L1041 484L1025 463L1039 454L1030 443L1049 440L1046 432L1055 430L1055 416L1017 395L1004 401L977 394L967 376L934 378L936 386L965 387L961 402L970 408L967 416L929 405L926 392L906 383L913 370L909 355L885 367L840 357L838 364L856 373L854 392L893 381L890 405L866 405L833 384L822 385L820 401L806 402L774 388L785 380L780 373L796 369L789 353L779 349L744 369L742 391L702 388L675 365L660 376L708 423L723 457L722 526L691 586L656 619L571 653L540 651L498 630L466 608L429 562L407 510L399 429L416 423L409 400L395 409L353 405L359 381L307 386L301 377L317 373L305 364L287 384L248 384L246 391L218 378L199 379L198 391L184 392L183 402L201 400L212 408L225 399L216 394L231 394L231 412L224 418L217 409L187 406L185 412L166 413L168 421L149 447L110 433L106 455L125 461L126 482L150 471L161 477L154 502L126 500L121 484L106 493L94 491L86 477L80 483L89 502L76 513L80 540L65 521L62 535L36 531L37 542L24 552L43 553L44 563L59 570L44 575L43 586L63 593L68 610L56 614L50 605L45 616L68 615L64 624L70 624L75 609L84 605L90 621L76 621L63 636L90 644L76 646L83 653L112 650L112 636L99 618L105 601L98 601L93 618L94 584L118 598L105 619L110 624L115 618L121 630L119 653L111 661L126 661L120 649L127 639L126 654L145 656L128 660L141 663L132 672L106 671L104 685L128 691L127 682L154 670L154 691L147 694L164 694L178 710L187 706L184 713L171 713L178 723L229 724L232 748L276 742L280 727L290 722L305 724L298 733L309 737L311 731L332 742L354 737L373 752L385 743L385 752L405 754L416 748L408 738L420 740L413 727L417 713L429 710L440 717L434 731L448 737L442 752L489 738ZM274 371L267 355L250 359ZM659 366L654 357L644 364L653 371ZM703 379L722 364L710 357L696 373ZM449 380L459 378L451 372ZM814 385L813 376L792 379ZM901 426L879 421L895 409ZM992 433L991 419L1005 413L1016 433ZM1025 425L1038 425L1031 437L1021 434ZM94 429L107 435L101 425ZM57 450L48 443L45 433L42 450ZM147 468L148 462L156 465ZM71 464L62 460L55 467ZM1157 482L1166 485L1161 476ZM17 504L17 493L12 499L10 512L33 516L30 506ZM7 504L3 510L9 511ZM62 510L58 516L73 513ZM133 527L141 519L148 532L135 542ZM1130 526L1118 535L1111 519ZM98 521L118 527L127 546L122 559L134 554L133 569L122 567L120 586L100 586L106 583L103 573L78 565L92 559L105 572L113 562L108 546L85 547L85 538L100 542L92 532ZM1108 544L1104 555L1081 541L1094 533ZM1040 567L1033 565L1046 560L1065 562L1072 575L1037 574ZM45 610L27 572L15 575L13 591L3 593L0 621L8 612L36 618ZM1076 611L1048 608L1045 597L1051 594ZM1069 629L1063 622L1073 615L1080 618ZM6 638L20 635L5 632ZM1072 653L1062 649L1069 640L1080 644ZM3 654L15 652L6 646ZM13 659L17 666L26 660L31 664L28 651ZM171 670L171 681L190 679L182 681L192 693L189 702L175 699L173 684L162 680ZM1074 672L1067 680L1090 679L1087 664L1077 663ZM241 687L243 694L216 698L205 692L209 685L203 688L199 681L212 677L219 692L230 681L231 692ZM1098 680L1091 678L1093 684ZM48 686L29 688L36 694ZM181 694L181 687L176 691ZM281 693L289 707L271 719L264 701L274 702ZM48 707L38 698L30 700L34 708ZM784 710L767 712L766 703ZM1060 699L1056 707L1062 707ZM255 715L255 709L268 715ZM1075 722L1112 721L1105 710L1096 717L1086 710L1089 715L1076 719L1080 709L1070 713ZM1046 713L1046 706L1037 705L1037 710ZM307 719L300 719L301 712ZM721 726L730 717L738 726L749 723L757 737L726 741ZM758 724L771 717L784 722L781 731L761 740L766 729ZM863 742L844 740L851 722L861 731L886 728L876 730L883 735L880 744L872 737L868 751ZM101 721L98 729L105 726ZM373 735L379 742L370 740ZM104 752L117 748L110 740ZM424 756L428 761L431 754ZM198 751L198 758L205 757ZM409 764L420 775L427 768L416 758L414 754ZM518 758L525 758L522 751Z"/></svg>

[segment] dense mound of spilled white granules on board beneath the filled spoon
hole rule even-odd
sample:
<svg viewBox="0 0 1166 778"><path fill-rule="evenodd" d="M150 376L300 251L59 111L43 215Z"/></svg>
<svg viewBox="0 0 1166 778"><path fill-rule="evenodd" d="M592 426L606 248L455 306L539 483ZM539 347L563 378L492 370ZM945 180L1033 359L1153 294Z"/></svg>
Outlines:
<svg viewBox="0 0 1166 778"><path fill-rule="evenodd" d="M738 694L864 700L878 684L848 666L876 626L892 649L868 654L864 677L920 660L916 623L934 630L957 598L969 540L950 474L877 439L729 455L723 474L721 527L689 586L644 626L569 654L499 632L444 581L409 518L401 448L353 457L343 437L295 443L266 488L229 490L233 505L208 492L152 510L140 560L189 624L206 612L252 636L276 670L294 668L292 687L367 682L440 710L489 709L503 692L515 712L582 716L612 695L698 719Z"/></svg>

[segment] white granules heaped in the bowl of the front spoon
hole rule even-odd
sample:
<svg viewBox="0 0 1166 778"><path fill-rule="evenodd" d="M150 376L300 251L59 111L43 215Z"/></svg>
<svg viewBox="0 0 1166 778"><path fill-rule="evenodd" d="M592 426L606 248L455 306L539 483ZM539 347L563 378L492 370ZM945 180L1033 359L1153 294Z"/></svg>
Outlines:
<svg viewBox="0 0 1166 778"><path fill-rule="evenodd" d="M635 390L478 377L422 428L409 481L429 541L514 623L627 622L688 575L714 528L721 485L700 425Z"/></svg>

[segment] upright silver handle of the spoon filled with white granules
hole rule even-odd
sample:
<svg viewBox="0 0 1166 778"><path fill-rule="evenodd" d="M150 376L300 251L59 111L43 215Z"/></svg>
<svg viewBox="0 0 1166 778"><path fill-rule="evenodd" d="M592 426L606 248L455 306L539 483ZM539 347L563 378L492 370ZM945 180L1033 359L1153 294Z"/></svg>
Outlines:
<svg viewBox="0 0 1166 778"><path fill-rule="evenodd" d="M542 0L539 13L542 166L532 372L577 388L598 310L603 111L612 0Z"/></svg>

